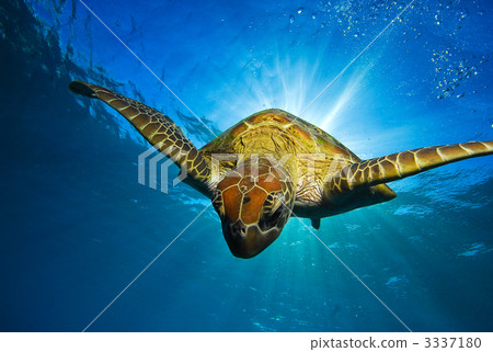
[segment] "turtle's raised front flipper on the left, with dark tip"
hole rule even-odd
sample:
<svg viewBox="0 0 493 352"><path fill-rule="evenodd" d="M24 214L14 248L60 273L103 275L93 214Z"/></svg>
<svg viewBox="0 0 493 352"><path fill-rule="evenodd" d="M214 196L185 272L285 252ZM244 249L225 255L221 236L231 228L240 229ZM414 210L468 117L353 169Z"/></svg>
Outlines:
<svg viewBox="0 0 493 352"><path fill-rule="evenodd" d="M118 95L104 87L73 81L69 88L74 93L98 98L115 109L156 149L172 159L182 169L182 172L186 171L186 183L210 196L207 189L207 182L210 178L210 168L207 160L170 117L136 100Z"/></svg>

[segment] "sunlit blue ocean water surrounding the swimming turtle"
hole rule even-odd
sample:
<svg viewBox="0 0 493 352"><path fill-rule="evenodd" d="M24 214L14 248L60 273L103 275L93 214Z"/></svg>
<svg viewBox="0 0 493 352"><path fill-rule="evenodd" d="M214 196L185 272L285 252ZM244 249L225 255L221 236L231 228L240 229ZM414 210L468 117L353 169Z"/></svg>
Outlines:
<svg viewBox="0 0 493 352"><path fill-rule="evenodd" d="M85 3L216 134L299 114L353 63L301 117L359 157L493 139L490 1L415 1L383 33L406 2ZM81 331L207 201L139 184L148 145L70 80L156 106L197 146L213 135L80 1L2 1L0 47L0 330ZM492 331L492 171L393 182L395 200L317 234L413 331ZM405 328L298 219L240 260L209 207L88 330Z"/></svg>

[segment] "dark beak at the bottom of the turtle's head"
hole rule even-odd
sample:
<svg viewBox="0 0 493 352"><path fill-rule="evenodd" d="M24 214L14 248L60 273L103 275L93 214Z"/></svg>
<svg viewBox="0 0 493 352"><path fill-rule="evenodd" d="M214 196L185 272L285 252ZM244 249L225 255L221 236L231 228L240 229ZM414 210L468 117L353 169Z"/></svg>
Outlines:
<svg viewBox="0 0 493 352"><path fill-rule="evenodd" d="M280 230L271 228L262 231L257 225L246 226L241 219L234 224L222 220L222 234L231 253L243 259L253 258L262 252L279 237Z"/></svg>

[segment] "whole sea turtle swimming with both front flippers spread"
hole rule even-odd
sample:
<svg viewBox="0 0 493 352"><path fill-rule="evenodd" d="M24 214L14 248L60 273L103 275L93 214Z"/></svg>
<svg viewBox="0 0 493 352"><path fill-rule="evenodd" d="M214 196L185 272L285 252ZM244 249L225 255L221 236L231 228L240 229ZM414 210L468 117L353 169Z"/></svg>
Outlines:
<svg viewBox="0 0 493 352"><path fill-rule="evenodd" d="M285 111L255 113L197 149L173 121L107 88L73 81L70 90L118 111L209 197L236 257L267 248L289 217L320 218L387 202L385 183L449 162L493 154L492 141L427 147L362 161L319 127Z"/></svg>

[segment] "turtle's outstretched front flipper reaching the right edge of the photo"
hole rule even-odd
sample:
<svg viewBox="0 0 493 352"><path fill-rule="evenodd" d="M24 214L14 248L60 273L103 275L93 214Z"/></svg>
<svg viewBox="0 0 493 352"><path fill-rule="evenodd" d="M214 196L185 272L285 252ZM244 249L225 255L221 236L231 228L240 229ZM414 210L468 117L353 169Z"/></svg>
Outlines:
<svg viewBox="0 0 493 352"><path fill-rule="evenodd" d="M355 162L344 167L325 185L331 194L400 180L450 162L493 155L493 140L427 147Z"/></svg>

